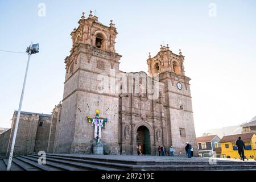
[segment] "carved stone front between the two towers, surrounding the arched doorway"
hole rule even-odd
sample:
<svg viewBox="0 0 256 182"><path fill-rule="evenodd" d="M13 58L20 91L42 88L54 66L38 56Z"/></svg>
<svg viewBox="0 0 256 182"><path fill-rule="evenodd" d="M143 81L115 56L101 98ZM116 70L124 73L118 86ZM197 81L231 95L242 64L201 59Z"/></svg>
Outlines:
<svg viewBox="0 0 256 182"><path fill-rule="evenodd" d="M127 92L119 98L119 123L121 127L121 154L137 154L137 130L139 126L146 126L150 131L151 155L156 155L159 145L166 143L166 115L164 114L164 84L158 82L155 88L156 97L151 99L148 85L151 78L144 72L125 73L127 78ZM135 77L130 79L129 77ZM145 81L142 81L145 79ZM138 90L134 88L138 80ZM131 86L129 86L131 85ZM134 85L134 86L133 86ZM155 84L156 85L156 84ZM132 89L132 90L130 90ZM144 90L143 90L144 89ZM146 92L145 92L146 91Z"/></svg>

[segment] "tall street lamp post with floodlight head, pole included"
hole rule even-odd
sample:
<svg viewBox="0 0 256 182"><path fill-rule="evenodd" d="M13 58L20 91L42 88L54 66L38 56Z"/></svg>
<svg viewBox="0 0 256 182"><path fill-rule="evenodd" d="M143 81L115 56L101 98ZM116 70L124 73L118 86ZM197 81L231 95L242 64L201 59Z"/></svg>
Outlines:
<svg viewBox="0 0 256 182"><path fill-rule="evenodd" d="M10 171L11 162L13 160L13 151L14 151L14 145L15 145L15 139L16 139L16 134L17 134L17 130L18 130L18 125L19 125L19 117L20 117L20 111L22 108L24 89L25 89L26 80L27 80L28 65L30 64L30 56L32 54L39 52L39 44L32 44L32 42L31 42L30 47L27 48L26 52L28 53L27 68L26 68L26 73L25 73L24 82L23 82L22 94L20 96L20 101L19 101L19 110L18 110L18 114L17 114L15 127L14 127L13 141L11 142L11 150L10 150L8 165L7 165L7 169L6 169L7 171Z"/></svg>

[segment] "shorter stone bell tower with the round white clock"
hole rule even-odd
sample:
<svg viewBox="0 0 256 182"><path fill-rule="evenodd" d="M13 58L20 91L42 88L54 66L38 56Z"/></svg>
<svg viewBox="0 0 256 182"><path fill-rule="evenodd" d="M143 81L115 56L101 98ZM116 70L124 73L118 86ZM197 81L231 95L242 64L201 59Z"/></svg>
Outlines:
<svg viewBox="0 0 256 182"><path fill-rule="evenodd" d="M156 56L148 56L148 73L158 74L159 81L164 83L167 117L167 145L173 146L176 154L184 155L186 142L192 144L197 155L196 134L193 121L193 110L189 77L185 76L184 56L173 53L167 46L160 46ZM181 152L181 153L180 153Z"/></svg>

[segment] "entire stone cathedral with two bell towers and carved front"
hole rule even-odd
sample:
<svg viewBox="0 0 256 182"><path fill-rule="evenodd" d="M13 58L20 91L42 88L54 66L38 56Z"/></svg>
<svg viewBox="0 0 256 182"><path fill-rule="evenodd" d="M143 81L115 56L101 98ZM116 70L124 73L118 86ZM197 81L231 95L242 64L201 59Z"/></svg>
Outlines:
<svg viewBox="0 0 256 182"><path fill-rule="evenodd" d="M119 71L121 55L115 51L117 29L97 16L84 13L72 33L72 48L65 58L63 102L53 115L49 138L52 152L90 154L94 128L86 115L108 118L101 130L106 154L158 154L158 146L174 147L184 155L185 143L196 149L190 78L184 56L161 46L148 56L148 73ZM52 136L51 136L52 135ZM53 136L54 135L54 136Z"/></svg>

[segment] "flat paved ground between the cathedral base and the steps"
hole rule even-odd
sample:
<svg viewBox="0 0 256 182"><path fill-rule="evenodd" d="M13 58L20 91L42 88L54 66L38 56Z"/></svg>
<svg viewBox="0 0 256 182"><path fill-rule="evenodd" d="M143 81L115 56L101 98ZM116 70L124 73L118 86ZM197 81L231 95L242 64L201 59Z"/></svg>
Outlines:
<svg viewBox="0 0 256 182"><path fill-rule="evenodd" d="M51 155L58 155L58 154L51 154ZM144 155L81 155L81 154L61 154L65 156L84 156L90 158L97 158L97 159L118 159L118 160L128 160L128 161L156 161L156 162L208 162L209 159L213 160L216 159L217 162L242 162L240 159L226 159L226 158L186 158L185 156L144 156ZM245 159L244 162L253 162L256 163L253 159Z"/></svg>

